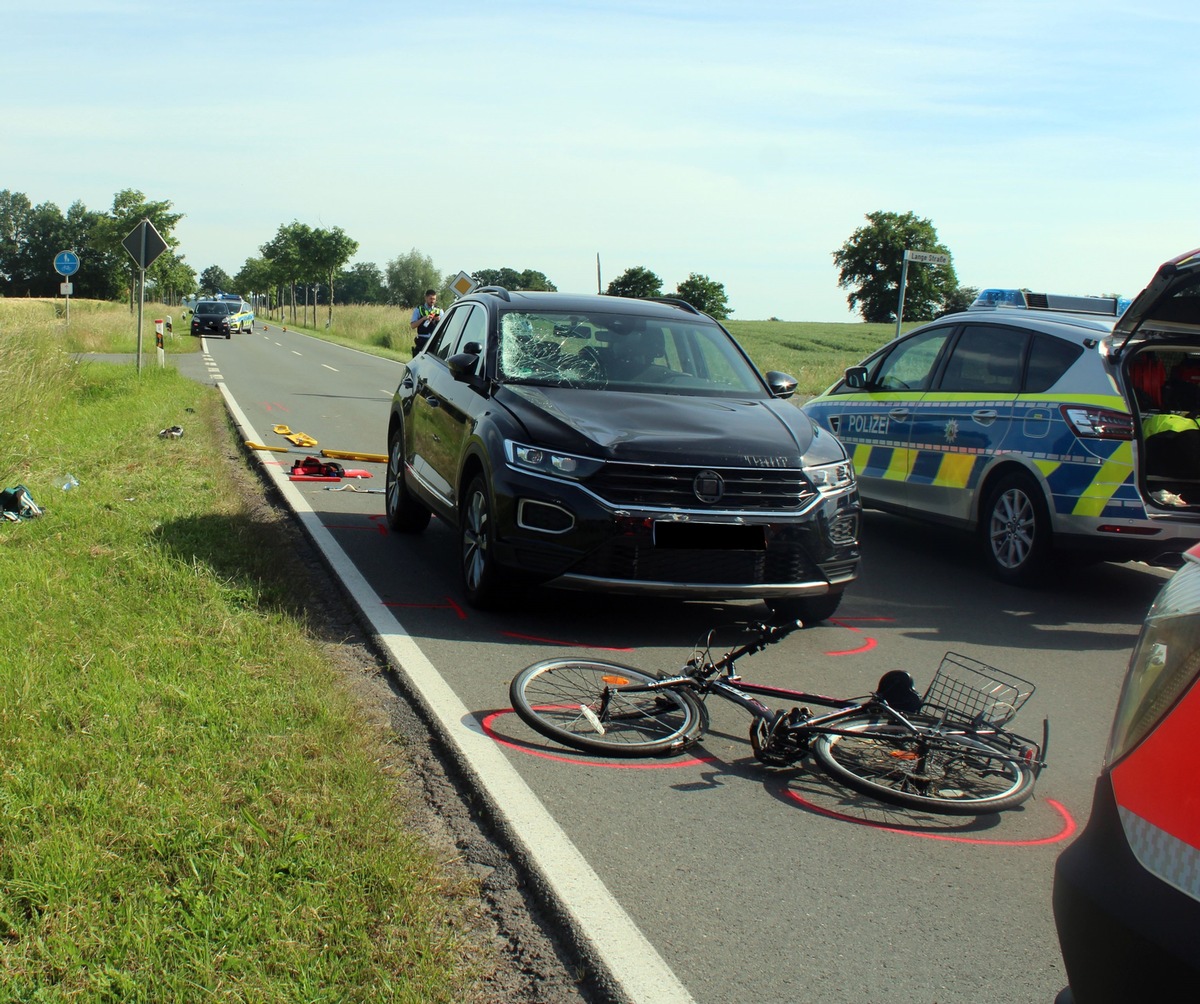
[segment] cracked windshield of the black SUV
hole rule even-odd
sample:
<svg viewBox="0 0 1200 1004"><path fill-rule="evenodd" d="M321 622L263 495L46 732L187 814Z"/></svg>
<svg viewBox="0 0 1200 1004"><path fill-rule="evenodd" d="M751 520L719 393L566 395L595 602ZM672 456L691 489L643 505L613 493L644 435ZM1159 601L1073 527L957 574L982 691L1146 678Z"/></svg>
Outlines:
<svg viewBox="0 0 1200 1004"><path fill-rule="evenodd" d="M500 318L499 369L510 384L768 396L720 327L629 314L510 311Z"/></svg>

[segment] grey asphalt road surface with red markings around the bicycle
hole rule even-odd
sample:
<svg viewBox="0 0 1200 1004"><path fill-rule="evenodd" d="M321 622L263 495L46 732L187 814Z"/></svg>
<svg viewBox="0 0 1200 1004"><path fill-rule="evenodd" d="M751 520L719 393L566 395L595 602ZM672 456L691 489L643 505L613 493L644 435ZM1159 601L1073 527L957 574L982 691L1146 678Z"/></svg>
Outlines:
<svg viewBox="0 0 1200 1004"><path fill-rule="evenodd" d="M402 319L398 321L402 323ZM246 438L386 451L398 365L278 325L206 343ZM318 447L318 449L319 449ZM264 455L265 456L265 455ZM293 457L274 455L276 469ZM383 488L384 469L359 488ZM772 770L749 720L714 704L701 746L608 762L554 747L508 709L508 683L559 653L674 669L754 602L656 602L528 590L467 607L456 539L437 519L391 534L383 497L289 485L409 683L553 895L636 1002L1050 1002L1066 982L1050 888L1086 822L1121 677L1168 576L1140 565L1058 570L1045 588L990 579L971 539L869 512L862 577L835 620L740 663L746 679L836 696L908 669L923 689L947 651L1037 684L1015 726L1051 722L1050 768L1022 808L934 817L839 788L811 763ZM314 529L316 528L316 529ZM721 636L719 636L721 637Z"/></svg>

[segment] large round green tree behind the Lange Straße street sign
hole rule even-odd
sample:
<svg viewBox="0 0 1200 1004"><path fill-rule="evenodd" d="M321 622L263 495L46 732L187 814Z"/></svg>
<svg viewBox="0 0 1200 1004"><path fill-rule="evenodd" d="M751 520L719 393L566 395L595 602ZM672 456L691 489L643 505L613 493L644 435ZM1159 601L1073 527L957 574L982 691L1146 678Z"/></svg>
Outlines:
<svg viewBox="0 0 1200 1004"><path fill-rule="evenodd" d="M938 244L929 220L912 212L869 212L859 227L833 252L838 285L848 289L846 302L863 320L872 324L894 321L900 299L900 272L905 251L949 254ZM953 263L917 265L908 269L905 288L906 320L931 320L949 293L958 288Z"/></svg>

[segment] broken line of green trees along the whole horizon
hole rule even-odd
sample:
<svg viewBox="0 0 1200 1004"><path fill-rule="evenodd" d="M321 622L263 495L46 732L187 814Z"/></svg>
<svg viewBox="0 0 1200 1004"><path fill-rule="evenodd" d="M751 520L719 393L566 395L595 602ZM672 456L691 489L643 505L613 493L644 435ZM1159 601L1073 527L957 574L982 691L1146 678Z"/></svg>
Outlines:
<svg viewBox="0 0 1200 1004"><path fill-rule="evenodd" d="M174 233L182 217L170 202L148 199L132 188L118 192L106 210L89 210L76 200L66 212L54 203L34 205L20 192L0 190L0 295L59 295L62 277L54 271L54 257L60 251L73 251L82 263L79 271L71 276L74 296L127 297L132 305L138 270L121 241L143 220L154 224L167 245L146 269L146 295L167 303L196 293L238 293L247 299L256 295L260 303L271 308L288 305L293 315L299 302L312 303L314 314L320 305L328 309L326 323L331 324L335 303L410 307L421 302L426 289L446 290L452 278L416 248L397 254L382 269L373 261L350 265L359 244L341 227L310 227L295 220L281 226L259 247L258 255L247 258L233 276L217 265L197 273L180 253L179 238ZM884 211L868 214L866 226L858 228L833 252L839 285L850 290L847 303L863 320L895 319L906 250L949 255L931 221L912 212ZM484 267L470 275L484 285L557 289L544 272L533 269ZM662 281L641 265L626 269L605 291L613 296L664 295ZM947 265L910 269L905 319L926 320L961 309L970 305L976 293L973 288L959 287L953 260ZM696 272L679 282L668 295L686 300L719 319L733 313L724 284Z"/></svg>

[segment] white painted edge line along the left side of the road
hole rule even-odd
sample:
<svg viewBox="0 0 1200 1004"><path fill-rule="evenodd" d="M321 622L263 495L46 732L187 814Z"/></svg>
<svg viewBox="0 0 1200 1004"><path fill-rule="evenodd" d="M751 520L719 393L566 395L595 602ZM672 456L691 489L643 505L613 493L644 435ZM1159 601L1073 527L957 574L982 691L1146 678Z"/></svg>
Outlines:
<svg viewBox="0 0 1200 1004"><path fill-rule="evenodd" d="M262 443L226 385L217 386L244 437ZM508 822L510 836L520 842L526 859L620 987L624 1000L629 1004L696 1004L496 743L472 725L472 713L354 567L304 494L281 467L264 464L263 468L324 552L379 642L421 696L427 711L440 726L443 738L474 774L492 811Z"/></svg>

